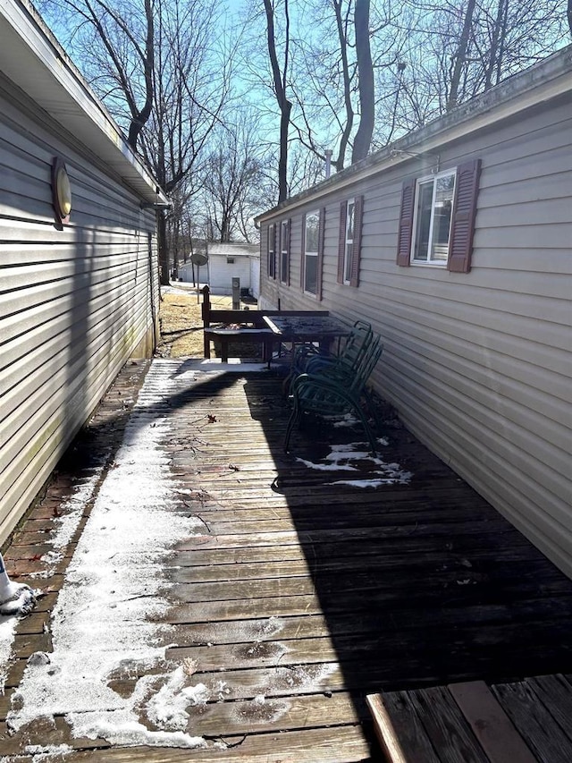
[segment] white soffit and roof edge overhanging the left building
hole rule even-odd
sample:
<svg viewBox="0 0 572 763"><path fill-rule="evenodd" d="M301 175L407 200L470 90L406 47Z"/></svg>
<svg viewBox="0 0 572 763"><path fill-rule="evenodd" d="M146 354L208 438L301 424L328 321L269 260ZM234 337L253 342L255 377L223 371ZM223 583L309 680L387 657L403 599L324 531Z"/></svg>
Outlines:
<svg viewBox="0 0 572 763"><path fill-rule="evenodd" d="M0 0L0 71L142 199L157 200L155 179L27 0Z"/></svg>

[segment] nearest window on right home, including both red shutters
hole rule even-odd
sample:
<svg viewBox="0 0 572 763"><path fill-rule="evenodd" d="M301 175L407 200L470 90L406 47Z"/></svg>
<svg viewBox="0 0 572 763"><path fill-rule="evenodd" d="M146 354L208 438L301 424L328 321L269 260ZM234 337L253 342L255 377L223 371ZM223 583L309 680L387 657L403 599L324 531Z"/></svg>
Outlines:
<svg viewBox="0 0 572 763"><path fill-rule="evenodd" d="M470 270L480 171L481 161L474 159L404 183L398 265Z"/></svg>

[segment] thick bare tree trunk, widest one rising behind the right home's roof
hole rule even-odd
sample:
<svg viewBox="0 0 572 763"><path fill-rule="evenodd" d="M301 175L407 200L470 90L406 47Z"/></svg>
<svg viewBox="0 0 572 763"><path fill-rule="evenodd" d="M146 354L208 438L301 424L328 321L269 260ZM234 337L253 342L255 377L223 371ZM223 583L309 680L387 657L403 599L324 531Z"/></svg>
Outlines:
<svg viewBox="0 0 572 763"><path fill-rule="evenodd" d="M352 164L367 156L374 133L374 66L369 44L369 0L356 0L354 24L361 114L351 155Z"/></svg>

